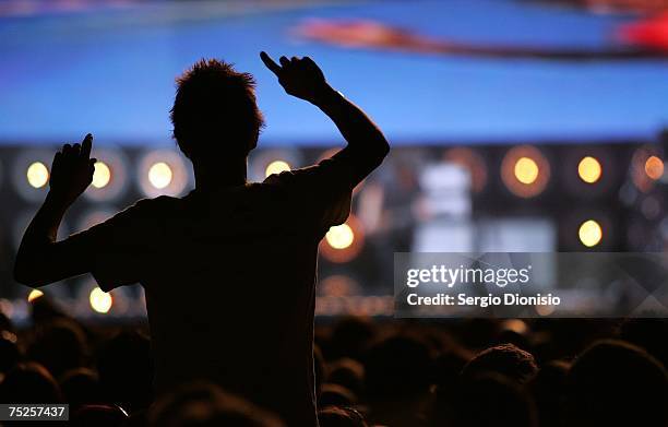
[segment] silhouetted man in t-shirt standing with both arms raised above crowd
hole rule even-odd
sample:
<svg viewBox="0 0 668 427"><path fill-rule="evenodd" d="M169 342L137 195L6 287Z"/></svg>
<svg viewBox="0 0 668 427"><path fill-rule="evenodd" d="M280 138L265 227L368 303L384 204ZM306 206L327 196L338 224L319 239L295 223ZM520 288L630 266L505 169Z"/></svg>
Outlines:
<svg viewBox="0 0 668 427"><path fill-rule="evenodd" d="M285 91L326 114L348 142L318 165L247 182L262 115L254 82L216 60L178 80L174 135L195 190L142 200L88 230L57 240L68 207L91 183L92 135L56 154L50 191L25 233L16 281L41 286L92 273L109 292L146 294L158 392L204 378L314 426L313 309L318 242L348 216L353 188L389 145L325 81L310 58L261 54Z"/></svg>

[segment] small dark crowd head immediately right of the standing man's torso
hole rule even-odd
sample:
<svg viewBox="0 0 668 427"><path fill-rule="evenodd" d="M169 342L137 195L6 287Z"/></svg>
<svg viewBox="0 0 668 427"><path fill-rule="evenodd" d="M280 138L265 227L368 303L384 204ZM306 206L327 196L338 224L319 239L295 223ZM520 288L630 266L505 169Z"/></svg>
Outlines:
<svg viewBox="0 0 668 427"><path fill-rule="evenodd" d="M344 317L332 330L329 347L325 351L329 360L350 357L359 360L362 352L375 336L375 325L369 319Z"/></svg>

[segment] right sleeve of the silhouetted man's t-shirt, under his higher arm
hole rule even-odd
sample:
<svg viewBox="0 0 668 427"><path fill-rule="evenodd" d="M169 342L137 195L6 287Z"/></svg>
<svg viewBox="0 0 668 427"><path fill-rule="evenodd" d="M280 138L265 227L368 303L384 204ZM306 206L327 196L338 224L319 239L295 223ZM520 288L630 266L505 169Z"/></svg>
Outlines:
<svg viewBox="0 0 668 427"><path fill-rule="evenodd" d="M297 209L326 230L343 224L350 214L351 174L347 162L333 156L313 166L272 175L265 182L281 186Z"/></svg>

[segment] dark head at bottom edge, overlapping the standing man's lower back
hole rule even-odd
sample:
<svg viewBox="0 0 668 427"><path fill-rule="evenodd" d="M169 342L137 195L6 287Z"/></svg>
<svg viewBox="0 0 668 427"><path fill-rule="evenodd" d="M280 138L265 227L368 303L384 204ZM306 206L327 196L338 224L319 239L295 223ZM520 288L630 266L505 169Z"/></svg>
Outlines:
<svg viewBox="0 0 668 427"><path fill-rule="evenodd" d="M224 392L207 382L195 382L164 395L151 408L152 427L284 427L273 414Z"/></svg>

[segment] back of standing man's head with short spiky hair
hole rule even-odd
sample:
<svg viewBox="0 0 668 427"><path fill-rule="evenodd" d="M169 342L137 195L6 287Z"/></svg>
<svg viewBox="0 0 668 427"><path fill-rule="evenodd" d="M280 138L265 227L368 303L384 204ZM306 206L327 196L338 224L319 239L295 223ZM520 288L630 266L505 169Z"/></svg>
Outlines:
<svg viewBox="0 0 668 427"><path fill-rule="evenodd" d="M255 82L224 61L202 59L177 79L174 138L190 159L246 157L263 126Z"/></svg>

